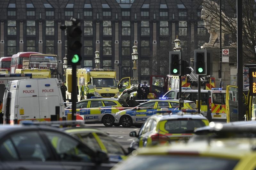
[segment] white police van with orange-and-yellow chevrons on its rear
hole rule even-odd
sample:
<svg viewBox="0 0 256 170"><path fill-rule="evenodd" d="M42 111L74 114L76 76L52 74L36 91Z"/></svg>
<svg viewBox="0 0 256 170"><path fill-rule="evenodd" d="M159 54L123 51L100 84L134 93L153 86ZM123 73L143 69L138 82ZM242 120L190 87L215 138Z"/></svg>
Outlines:
<svg viewBox="0 0 256 170"><path fill-rule="evenodd" d="M230 98L234 98L234 94L229 92ZM166 99L179 99L179 89L169 90L164 94ZM198 90L191 88L181 89L181 98L196 102L198 100ZM201 90L201 113L207 117L209 121L227 121L226 111L226 90L222 88L212 88L212 90Z"/></svg>

